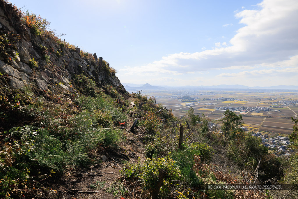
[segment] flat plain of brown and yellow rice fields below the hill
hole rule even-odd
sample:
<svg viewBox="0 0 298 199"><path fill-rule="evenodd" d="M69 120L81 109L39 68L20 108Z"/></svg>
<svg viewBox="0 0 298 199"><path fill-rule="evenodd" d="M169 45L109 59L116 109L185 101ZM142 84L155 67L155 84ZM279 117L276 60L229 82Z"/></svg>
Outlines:
<svg viewBox="0 0 298 199"><path fill-rule="evenodd" d="M199 93L199 95L198 95ZM205 95L204 93L207 93ZM193 107L195 115L204 113L210 120L218 120L224 114L221 107L229 107L231 110L245 107L266 107L273 110L250 112L242 115L244 126L249 130L263 131L268 133L291 134L294 122L291 117L298 115L298 91L281 92L280 90L262 90L258 92L249 91L175 91L173 92L147 92L148 95L156 97L156 104L162 103L167 109L172 109L176 117L186 117L187 111ZM164 96L164 97L163 97ZM181 102L179 96L190 96L196 98L194 104ZM224 100L221 100L221 97ZM201 100L209 98L210 100ZM296 101L295 101L296 100ZM226 109L226 108L225 108ZM235 111L239 114L240 111Z"/></svg>

